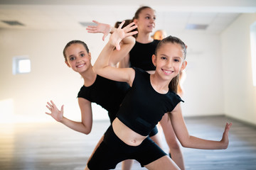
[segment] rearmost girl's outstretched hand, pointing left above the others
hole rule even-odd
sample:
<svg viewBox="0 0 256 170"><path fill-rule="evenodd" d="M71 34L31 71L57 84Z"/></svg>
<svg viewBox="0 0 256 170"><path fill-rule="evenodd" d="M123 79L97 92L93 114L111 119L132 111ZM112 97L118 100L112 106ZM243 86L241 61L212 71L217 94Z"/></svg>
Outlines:
<svg viewBox="0 0 256 170"><path fill-rule="evenodd" d="M92 21L97 24L97 26L87 26L86 30L88 30L88 33L103 33L102 40L105 40L107 35L111 31L111 26L106 23L99 23L97 21Z"/></svg>

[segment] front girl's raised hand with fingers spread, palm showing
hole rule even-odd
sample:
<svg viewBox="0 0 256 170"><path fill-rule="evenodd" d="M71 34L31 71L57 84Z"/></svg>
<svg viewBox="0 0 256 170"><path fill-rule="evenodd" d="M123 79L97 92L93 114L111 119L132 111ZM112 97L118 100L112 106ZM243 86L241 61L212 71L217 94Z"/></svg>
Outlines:
<svg viewBox="0 0 256 170"><path fill-rule="evenodd" d="M114 30L109 40L110 44L114 45L114 47L116 47L117 50L120 50L120 42L122 41L122 39L138 33L137 30L132 31L135 28L137 28L137 26L135 26L134 23L130 23L126 27L122 28L123 25L124 21L122 21L119 27L116 30Z"/></svg>

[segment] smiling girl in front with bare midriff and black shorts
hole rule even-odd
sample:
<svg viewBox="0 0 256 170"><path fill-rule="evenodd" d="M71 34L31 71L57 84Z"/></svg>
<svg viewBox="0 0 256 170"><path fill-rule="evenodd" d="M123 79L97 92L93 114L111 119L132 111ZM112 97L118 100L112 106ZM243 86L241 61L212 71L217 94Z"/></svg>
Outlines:
<svg viewBox="0 0 256 170"><path fill-rule="evenodd" d="M153 144L149 145L146 142L148 141L146 135L165 113L169 113L171 123L183 147L226 149L228 147L228 131L232 123L225 125L223 137L220 141L203 140L188 133L181 112L181 104L179 103L181 98L174 93L177 88L177 81L175 80L178 79L178 72L184 69L187 63L185 60L186 47L180 39L169 36L161 40L156 48L156 55L152 57L152 61L156 66L154 74L147 74L134 68L116 68L108 65L113 47L115 46L119 49L119 40L130 35L129 29L121 29L122 24L110 36L110 40L100 53L94 68L95 72L102 77L114 81L127 82L131 86L131 90L124 98L122 106L117 113L117 118L114 119L109 130L107 130L104 140L106 142L102 143L95 151L92 161L88 162L88 166L85 169L97 169L97 167L100 167L99 169L110 169L114 167L114 164L118 163L114 159L116 154L127 155L131 159L137 159L147 169L155 169L156 167L157 169L179 169L166 155L154 159L147 157L147 153L151 149L155 149L155 147L153 147ZM127 108L129 108L129 111L126 110ZM145 112L144 108L146 108ZM129 115L132 118L129 118ZM137 126L134 126L133 123ZM117 137L114 137L113 133ZM109 138L109 135L114 137L113 140L111 140L111 137ZM132 147L133 149L130 152L124 151L120 153L119 151L122 149L118 145L120 141L124 145L123 147L126 146L127 149ZM143 149L144 147L142 146L144 145L148 148ZM113 152L108 152L109 148L112 148ZM144 153L146 160L136 157L136 153L139 155ZM105 157L107 162L99 164L101 157ZM122 159L118 161L122 161Z"/></svg>

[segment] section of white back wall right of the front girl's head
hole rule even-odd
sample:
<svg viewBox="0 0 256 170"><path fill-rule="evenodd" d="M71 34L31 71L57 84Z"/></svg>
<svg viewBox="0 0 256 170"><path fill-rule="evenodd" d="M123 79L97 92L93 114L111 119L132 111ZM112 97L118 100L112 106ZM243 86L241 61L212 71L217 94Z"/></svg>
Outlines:
<svg viewBox="0 0 256 170"><path fill-rule="evenodd" d="M220 37L198 33L178 36L188 45L183 115L224 114Z"/></svg>

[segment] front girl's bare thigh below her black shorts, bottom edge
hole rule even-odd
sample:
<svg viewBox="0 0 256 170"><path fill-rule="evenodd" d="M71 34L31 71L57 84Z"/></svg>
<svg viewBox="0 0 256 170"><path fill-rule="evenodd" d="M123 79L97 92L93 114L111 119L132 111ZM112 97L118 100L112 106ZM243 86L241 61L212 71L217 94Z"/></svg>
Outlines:
<svg viewBox="0 0 256 170"><path fill-rule="evenodd" d="M157 159L154 162L151 162L150 164L145 165L146 169L150 170L173 170L173 169L179 169L178 166L171 160L170 157L167 155L164 157L161 157Z"/></svg>

